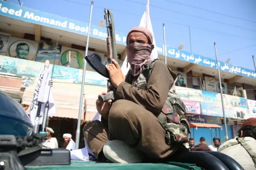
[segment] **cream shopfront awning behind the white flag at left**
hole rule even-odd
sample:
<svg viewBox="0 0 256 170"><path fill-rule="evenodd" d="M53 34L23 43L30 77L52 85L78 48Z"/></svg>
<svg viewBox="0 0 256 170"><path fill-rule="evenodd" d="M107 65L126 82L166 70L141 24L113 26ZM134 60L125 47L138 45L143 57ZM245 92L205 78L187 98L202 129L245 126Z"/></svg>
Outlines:
<svg viewBox="0 0 256 170"><path fill-rule="evenodd" d="M22 96L21 105L28 114L30 112L31 101L34 97L35 87L36 85L27 87ZM78 119L80 92L80 84L54 82L54 85L52 86L52 95L57 113L52 116ZM81 119L84 120L84 99Z"/></svg>

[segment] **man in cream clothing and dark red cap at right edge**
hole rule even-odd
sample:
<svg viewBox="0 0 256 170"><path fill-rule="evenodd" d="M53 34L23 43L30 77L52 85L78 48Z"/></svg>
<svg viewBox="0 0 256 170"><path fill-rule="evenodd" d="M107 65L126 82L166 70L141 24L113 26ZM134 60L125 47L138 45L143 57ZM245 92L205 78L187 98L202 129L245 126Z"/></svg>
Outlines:
<svg viewBox="0 0 256 170"><path fill-rule="evenodd" d="M255 170L256 166L256 118L244 121L238 130L238 137L224 142L218 152L236 160L245 170Z"/></svg>

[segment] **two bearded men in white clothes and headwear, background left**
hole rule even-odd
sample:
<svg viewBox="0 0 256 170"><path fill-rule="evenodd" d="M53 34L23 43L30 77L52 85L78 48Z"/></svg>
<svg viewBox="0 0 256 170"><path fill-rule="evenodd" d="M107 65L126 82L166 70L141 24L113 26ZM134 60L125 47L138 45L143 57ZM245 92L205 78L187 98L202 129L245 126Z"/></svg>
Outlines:
<svg viewBox="0 0 256 170"><path fill-rule="evenodd" d="M42 143L43 148L58 148L58 141L56 138L52 137L52 134L54 134L54 130L50 127L46 127L46 135L47 140ZM69 133L63 134L64 142L62 143L61 148L66 148L68 150L75 150L76 143L72 139L72 135Z"/></svg>

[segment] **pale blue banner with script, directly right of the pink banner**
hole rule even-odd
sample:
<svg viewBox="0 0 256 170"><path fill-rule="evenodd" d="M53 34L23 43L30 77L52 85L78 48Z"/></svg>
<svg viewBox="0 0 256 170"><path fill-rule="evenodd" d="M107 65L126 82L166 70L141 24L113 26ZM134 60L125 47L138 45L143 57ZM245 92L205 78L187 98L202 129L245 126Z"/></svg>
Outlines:
<svg viewBox="0 0 256 170"><path fill-rule="evenodd" d="M222 105L213 103L200 103L202 115L223 117ZM233 118L233 107L225 106L225 115L227 118Z"/></svg>

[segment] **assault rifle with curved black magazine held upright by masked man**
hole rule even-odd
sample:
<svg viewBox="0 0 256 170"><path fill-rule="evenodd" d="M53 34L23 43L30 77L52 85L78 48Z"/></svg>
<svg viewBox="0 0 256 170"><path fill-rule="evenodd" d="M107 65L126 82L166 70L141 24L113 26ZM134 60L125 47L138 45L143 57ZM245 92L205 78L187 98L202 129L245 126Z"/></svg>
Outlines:
<svg viewBox="0 0 256 170"><path fill-rule="evenodd" d="M106 21L106 28L107 28L107 48L108 48L108 62L107 64L112 64L112 59L115 59L118 62L118 55L116 50L116 35L115 35L115 27L114 27L114 20L113 20L113 14L110 10L107 8L104 9L104 18ZM112 85L108 70L106 69L105 65L100 62L97 58L100 58L100 56L97 53L90 53L89 55L84 57L87 61L87 63L97 71L100 75L103 77L108 78L108 93L106 95L100 95L98 97L98 100L100 102L106 102L108 100L112 100L112 102L115 101L115 93L116 88L114 85ZM110 86L111 84L111 86Z"/></svg>

